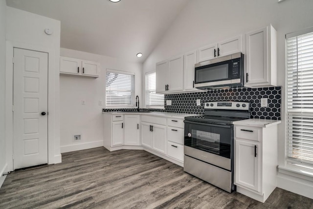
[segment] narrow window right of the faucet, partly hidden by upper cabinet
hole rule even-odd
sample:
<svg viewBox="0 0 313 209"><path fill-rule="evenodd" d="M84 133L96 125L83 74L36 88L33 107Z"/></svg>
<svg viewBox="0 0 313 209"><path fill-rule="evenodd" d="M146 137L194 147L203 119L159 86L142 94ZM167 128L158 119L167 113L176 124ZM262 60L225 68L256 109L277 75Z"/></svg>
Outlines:
<svg viewBox="0 0 313 209"><path fill-rule="evenodd" d="M164 94L156 93L156 72L146 74L146 107L164 108Z"/></svg>

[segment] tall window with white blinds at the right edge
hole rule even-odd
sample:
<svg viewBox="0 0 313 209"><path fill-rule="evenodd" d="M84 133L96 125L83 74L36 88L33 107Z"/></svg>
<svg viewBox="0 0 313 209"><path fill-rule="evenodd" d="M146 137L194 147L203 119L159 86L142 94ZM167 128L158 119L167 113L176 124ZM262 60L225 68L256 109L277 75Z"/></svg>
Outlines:
<svg viewBox="0 0 313 209"><path fill-rule="evenodd" d="M286 35L288 162L313 167L313 28Z"/></svg>

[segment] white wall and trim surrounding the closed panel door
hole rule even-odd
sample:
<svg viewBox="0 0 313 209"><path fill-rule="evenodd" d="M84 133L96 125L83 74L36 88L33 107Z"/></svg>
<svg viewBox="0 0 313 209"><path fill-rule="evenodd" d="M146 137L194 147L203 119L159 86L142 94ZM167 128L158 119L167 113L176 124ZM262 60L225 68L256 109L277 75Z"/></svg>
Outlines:
<svg viewBox="0 0 313 209"><path fill-rule="evenodd" d="M2 13L1 13L2 14ZM13 47L26 48L48 53L48 163L60 163L60 122L59 122L59 56L60 21L6 7L6 156L8 171L12 166L12 57ZM53 31L46 35L45 28Z"/></svg>

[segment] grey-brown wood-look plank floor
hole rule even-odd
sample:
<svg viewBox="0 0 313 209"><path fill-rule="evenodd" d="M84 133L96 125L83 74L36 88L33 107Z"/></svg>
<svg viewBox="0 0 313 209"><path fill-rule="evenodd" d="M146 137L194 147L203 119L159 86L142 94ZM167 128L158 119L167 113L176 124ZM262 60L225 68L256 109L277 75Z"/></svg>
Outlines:
<svg viewBox="0 0 313 209"><path fill-rule="evenodd" d="M99 147L9 174L0 188L0 209L6 208L313 209L313 200L276 188L262 204L146 151Z"/></svg>

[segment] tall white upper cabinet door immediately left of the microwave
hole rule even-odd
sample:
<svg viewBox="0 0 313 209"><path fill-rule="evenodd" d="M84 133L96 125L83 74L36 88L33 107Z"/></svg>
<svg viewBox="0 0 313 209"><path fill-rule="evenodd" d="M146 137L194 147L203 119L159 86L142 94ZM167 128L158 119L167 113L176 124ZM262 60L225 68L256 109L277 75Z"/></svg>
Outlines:
<svg viewBox="0 0 313 209"><path fill-rule="evenodd" d="M184 55L184 90L195 90L195 64L197 63L197 52L191 51Z"/></svg>

